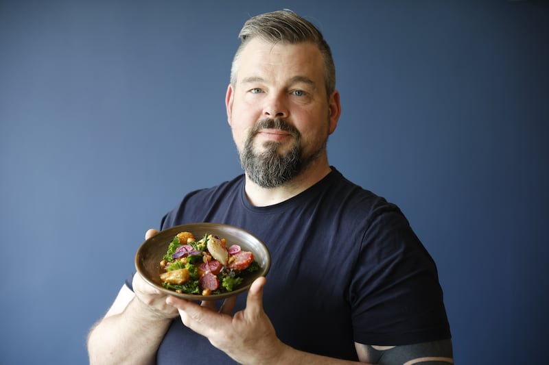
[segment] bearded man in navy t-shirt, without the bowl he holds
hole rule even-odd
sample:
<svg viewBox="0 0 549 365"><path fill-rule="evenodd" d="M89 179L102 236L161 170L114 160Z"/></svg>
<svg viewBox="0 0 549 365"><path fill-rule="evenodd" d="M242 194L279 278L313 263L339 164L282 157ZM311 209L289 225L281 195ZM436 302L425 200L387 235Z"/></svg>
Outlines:
<svg viewBox="0 0 549 365"><path fill-rule="evenodd" d="M395 205L328 164L341 106L323 36L282 11L240 38L226 111L245 174L187 194L161 229L242 227L270 250L268 282L218 308L134 275L91 330L91 363L452 364L430 255Z"/></svg>

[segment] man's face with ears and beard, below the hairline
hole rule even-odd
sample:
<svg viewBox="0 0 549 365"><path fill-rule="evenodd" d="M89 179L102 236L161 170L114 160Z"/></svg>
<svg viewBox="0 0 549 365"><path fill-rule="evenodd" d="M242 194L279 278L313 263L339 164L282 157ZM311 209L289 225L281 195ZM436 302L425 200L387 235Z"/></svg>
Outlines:
<svg viewBox="0 0 549 365"><path fill-rule="evenodd" d="M325 158L339 99L336 92L329 102L323 58L315 45L253 39L240 55L226 108L246 174L259 186L273 188Z"/></svg>

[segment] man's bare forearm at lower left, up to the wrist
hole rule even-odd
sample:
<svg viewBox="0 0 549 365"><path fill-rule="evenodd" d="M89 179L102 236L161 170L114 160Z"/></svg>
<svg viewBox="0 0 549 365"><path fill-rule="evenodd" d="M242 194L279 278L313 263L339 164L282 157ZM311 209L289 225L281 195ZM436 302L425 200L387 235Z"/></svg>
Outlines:
<svg viewBox="0 0 549 365"><path fill-rule="evenodd" d="M90 364L154 364L170 323L135 297L123 312L103 318L91 330Z"/></svg>

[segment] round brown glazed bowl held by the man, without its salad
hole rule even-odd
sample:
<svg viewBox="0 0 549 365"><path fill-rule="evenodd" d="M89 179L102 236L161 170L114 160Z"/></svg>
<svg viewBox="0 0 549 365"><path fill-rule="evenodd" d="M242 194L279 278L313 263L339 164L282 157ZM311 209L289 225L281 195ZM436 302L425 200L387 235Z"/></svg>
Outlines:
<svg viewBox="0 0 549 365"><path fill-rule="evenodd" d="M164 288L160 279L160 274L163 273L160 262L166 254L167 248L174 239L174 236L183 231L194 234L196 240L200 240L205 234L211 234L225 238L227 247L231 246L231 244L239 244L243 251L251 251L253 253L255 261L259 264L259 270L244 275L242 283L232 292L200 295L178 293L175 290ZM148 284L165 294L190 301L214 301L233 297L236 294L244 292L250 288L250 285L257 277L265 276L270 268L270 253L259 238L242 228L220 223L189 223L165 229L145 240L135 254L135 268Z"/></svg>

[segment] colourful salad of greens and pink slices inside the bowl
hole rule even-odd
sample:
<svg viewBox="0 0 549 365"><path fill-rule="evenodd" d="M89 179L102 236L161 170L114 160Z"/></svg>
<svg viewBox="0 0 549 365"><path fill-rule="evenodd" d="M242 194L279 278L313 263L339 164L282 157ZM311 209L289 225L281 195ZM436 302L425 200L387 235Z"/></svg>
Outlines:
<svg viewBox="0 0 549 365"><path fill-rule="evenodd" d="M178 233L160 262L162 285L186 294L232 292L259 264L238 244L226 245L224 238L211 234L196 241L191 232Z"/></svg>

